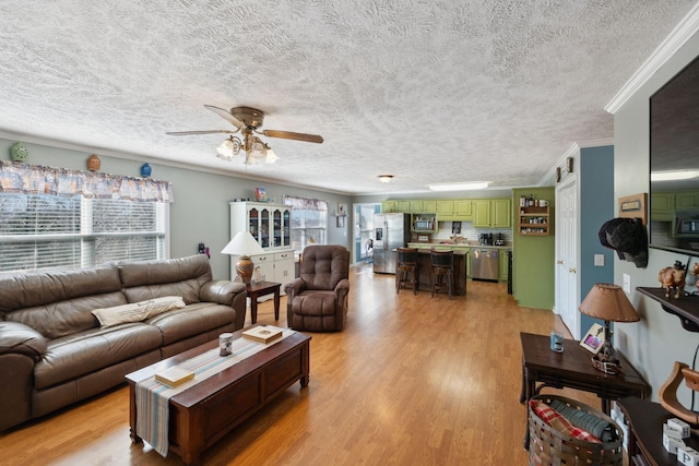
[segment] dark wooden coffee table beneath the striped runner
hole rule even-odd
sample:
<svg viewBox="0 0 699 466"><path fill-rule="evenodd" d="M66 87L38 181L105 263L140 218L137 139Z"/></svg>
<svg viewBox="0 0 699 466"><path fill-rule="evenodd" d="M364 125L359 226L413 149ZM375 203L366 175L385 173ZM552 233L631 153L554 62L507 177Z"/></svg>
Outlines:
<svg viewBox="0 0 699 466"><path fill-rule="evenodd" d="M234 333L240 337L241 331ZM296 381L308 386L310 336L295 334L271 345L240 362L224 369L173 396L169 402L169 450L188 465L199 462L201 453L252 416ZM171 358L132 372L129 383L131 440L142 441L135 433L139 414L135 384L156 371L178 365L218 347L218 340L189 349Z"/></svg>

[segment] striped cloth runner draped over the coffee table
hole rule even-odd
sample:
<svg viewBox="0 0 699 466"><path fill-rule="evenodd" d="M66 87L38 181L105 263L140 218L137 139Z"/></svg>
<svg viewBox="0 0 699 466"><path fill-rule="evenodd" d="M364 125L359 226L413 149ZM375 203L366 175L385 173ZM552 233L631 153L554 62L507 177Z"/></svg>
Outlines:
<svg viewBox="0 0 699 466"><path fill-rule="evenodd" d="M277 342L296 333L291 328L285 328L282 338L263 344L251 342L246 338L233 340L233 354L227 357L218 355L218 348L202 353L191 359L180 362L179 367L194 372L194 379L183 384L170 389L155 380L155 377L145 379L135 385L137 404L137 435L146 441L153 450L163 456L167 456L169 449L168 426L169 426L169 401L173 396L198 384L199 382L215 375L245 358L263 350Z"/></svg>

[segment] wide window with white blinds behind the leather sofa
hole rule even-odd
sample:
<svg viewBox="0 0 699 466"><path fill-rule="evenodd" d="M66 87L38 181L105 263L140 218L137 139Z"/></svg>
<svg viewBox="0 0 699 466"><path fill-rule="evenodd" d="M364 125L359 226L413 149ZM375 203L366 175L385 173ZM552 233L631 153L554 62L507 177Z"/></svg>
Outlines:
<svg viewBox="0 0 699 466"><path fill-rule="evenodd" d="M167 205L0 193L0 273L164 259Z"/></svg>

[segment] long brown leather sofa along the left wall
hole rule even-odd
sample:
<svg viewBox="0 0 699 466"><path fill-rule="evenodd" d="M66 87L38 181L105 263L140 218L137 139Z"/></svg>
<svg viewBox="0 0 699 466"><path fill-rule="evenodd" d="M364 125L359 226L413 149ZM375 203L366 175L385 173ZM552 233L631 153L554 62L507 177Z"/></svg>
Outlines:
<svg viewBox="0 0 699 466"><path fill-rule="evenodd" d="M94 309L177 296L186 307L100 327ZM203 255L0 277L0 431L241 328L245 285L213 280Z"/></svg>

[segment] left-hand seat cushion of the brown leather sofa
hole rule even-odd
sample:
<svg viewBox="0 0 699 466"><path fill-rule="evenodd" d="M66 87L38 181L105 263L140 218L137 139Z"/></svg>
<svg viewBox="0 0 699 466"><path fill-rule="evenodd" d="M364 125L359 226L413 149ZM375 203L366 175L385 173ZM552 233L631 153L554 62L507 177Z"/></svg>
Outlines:
<svg viewBox="0 0 699 466"><path fill-rule="evenodd" d="M44 358L34 367L35 390L76 379L157 349L163 336L157 327L127 323L93 328L48 342Z"/></svg>

